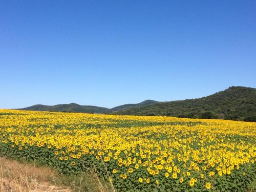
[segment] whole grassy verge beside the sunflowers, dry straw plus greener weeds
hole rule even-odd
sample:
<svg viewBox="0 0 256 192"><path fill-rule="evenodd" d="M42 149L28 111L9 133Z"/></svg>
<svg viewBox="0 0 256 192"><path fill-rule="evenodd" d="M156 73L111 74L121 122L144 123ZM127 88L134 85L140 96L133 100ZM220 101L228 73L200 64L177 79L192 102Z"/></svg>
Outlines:
<svg viewBox="0 0 256 192"><path fill-rule="evenodd" d="M115 192L112 183L88 171L77 176L58 175L47 166L36 166L0 156L0 192Z"/></svg>

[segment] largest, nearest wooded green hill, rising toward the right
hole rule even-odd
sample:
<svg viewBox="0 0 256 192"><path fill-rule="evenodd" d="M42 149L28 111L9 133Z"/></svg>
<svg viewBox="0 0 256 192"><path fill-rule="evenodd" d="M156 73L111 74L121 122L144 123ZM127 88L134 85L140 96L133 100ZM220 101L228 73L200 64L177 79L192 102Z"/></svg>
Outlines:
<svg viewBox="0 0 256 192"><path fill-rule="evenodd" d="M199 99L159 102L115 114L256 121L256 89L229 87Z"/></svg>

